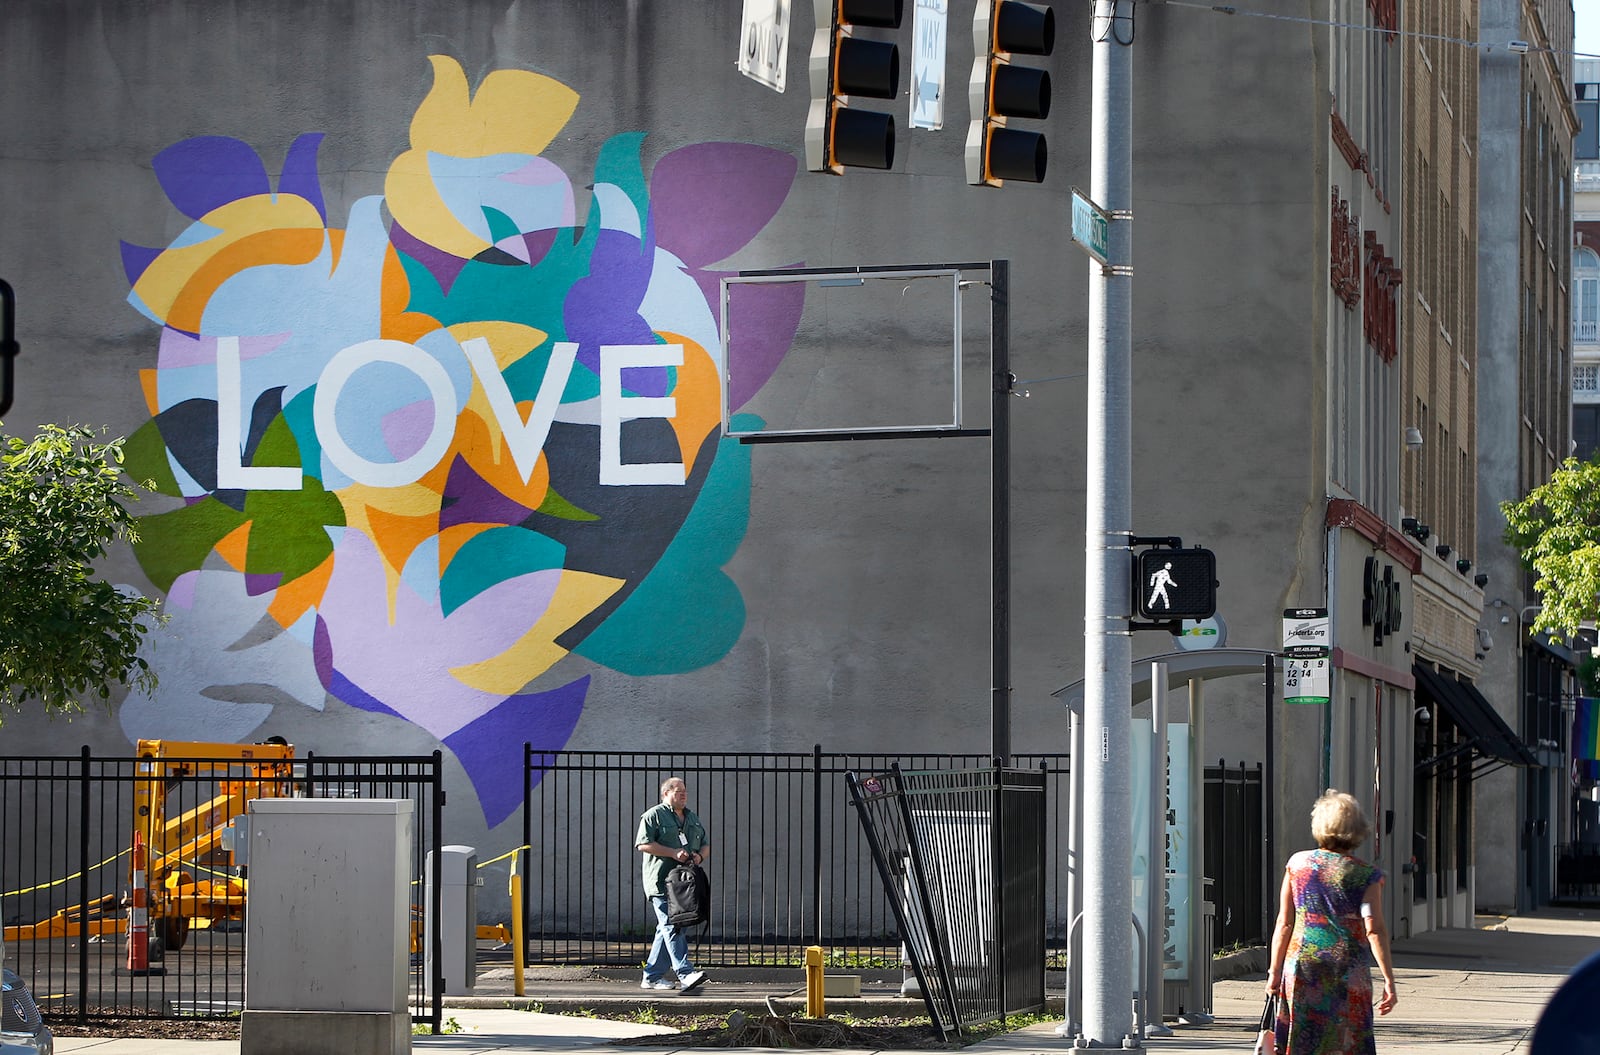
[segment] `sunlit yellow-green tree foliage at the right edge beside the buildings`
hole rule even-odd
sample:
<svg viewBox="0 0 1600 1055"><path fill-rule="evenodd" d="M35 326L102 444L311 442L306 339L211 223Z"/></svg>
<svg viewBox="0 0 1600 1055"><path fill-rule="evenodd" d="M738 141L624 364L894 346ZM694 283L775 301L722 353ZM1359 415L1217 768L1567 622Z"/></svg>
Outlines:
<svg viewBox="0 0 1600 1055"><path fill-rule="evenodd" d="M1506 541L1534 573L1533 631L1574 634L1600 615L1600 461L1568 458L1522 501L1501 503Z"/></svg>

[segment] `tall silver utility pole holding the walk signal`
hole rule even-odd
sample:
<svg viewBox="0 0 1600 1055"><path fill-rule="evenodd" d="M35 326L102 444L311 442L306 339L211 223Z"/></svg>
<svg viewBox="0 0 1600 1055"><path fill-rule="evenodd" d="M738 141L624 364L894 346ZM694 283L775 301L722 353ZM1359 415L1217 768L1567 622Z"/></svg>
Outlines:
<svg viewBox="0 0 1600 1055"><path fill-rule="evenodd" d="M1083 1033L1075 1047L1139 1047L1133 1029L1133 0L1094 0L1090 194L1109 215L1090 263L1088 522L1083 581ZM1078 759L1072 760L1074 767Z"/></svg>

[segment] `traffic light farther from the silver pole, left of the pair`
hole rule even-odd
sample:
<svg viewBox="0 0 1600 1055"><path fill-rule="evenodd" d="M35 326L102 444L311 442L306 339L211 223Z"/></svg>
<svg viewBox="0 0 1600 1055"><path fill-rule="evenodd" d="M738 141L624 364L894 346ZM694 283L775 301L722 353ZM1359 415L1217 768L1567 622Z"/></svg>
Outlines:
<svg viewBox="0 0 1600 1055"><path fill-rule="evenodd" d="M814 173L890 168L894 117L851 107L851 99L899 94L899 48L867 40L858 27L899 29L904 0L814 0L811 38L811 112L805 122L805 165ZM827 10L827 24L822 11Z"/></svg>

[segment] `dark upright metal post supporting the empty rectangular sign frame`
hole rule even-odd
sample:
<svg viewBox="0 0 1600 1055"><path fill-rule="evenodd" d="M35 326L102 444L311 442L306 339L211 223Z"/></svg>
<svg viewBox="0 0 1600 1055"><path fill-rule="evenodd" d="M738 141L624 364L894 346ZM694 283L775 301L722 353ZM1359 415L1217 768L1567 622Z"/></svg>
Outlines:
<svg viewBox="0 0 1600 1055"><path fill-rule="evenodd" d="M1011 765L1011 263L989 261L989 548L990 720L989 754Z"/></svg>

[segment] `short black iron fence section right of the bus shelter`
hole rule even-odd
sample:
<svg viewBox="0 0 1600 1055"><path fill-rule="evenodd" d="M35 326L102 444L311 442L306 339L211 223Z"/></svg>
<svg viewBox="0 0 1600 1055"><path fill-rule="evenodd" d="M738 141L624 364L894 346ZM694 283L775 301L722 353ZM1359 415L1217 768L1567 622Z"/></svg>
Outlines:
<svg viewBox="0 0 1600 1055"><path fill-rule="evenodd" d="M1266 945L1269 905L1262 887L1261 765L1205 767L1205 874L1216 909L1216 949Z"/></svg>

